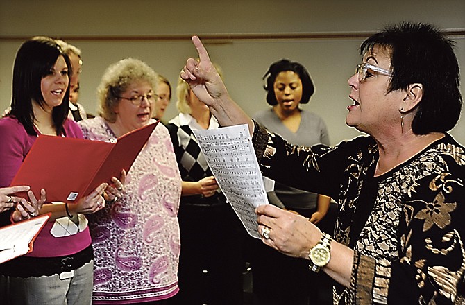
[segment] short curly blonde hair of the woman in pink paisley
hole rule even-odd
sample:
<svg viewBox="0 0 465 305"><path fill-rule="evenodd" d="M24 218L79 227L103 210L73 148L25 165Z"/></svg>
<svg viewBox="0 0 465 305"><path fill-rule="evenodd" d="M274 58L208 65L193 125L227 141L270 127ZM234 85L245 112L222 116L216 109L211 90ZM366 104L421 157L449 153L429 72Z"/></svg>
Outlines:
<svg viewBox="0 0 465 305"><path fill-rule="evenodd" d="M110 64L103 73L97 88L99 115L110 123L115 123L117 114L115 107L119 104L119 96L137 81L148 82L153 91L157 88L158 74L142 60L124 58Z"/></svg>

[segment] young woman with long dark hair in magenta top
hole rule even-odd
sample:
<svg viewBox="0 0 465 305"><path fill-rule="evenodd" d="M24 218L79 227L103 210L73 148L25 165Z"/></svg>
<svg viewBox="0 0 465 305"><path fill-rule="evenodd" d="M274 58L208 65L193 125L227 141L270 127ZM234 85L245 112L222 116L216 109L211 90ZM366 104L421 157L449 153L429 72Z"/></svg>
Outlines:
<svg viewBox="0 0 465 305"><path fill-rule="evenodd" d="M70 74L68 56L51 38L35 37L20 46L10 114L0 120L0 187L10 184L40 134L83 138L81 128L67 119L68 105L63 103L69 98ZM99 211L105 198L119 196L121 182L113 178L112 185L102 183L75 204L42 206L40 214L51 213L51 220L37 236L33 252L0 265L0 291L6 304L91 303L93 254L83 214Z"/></svg>

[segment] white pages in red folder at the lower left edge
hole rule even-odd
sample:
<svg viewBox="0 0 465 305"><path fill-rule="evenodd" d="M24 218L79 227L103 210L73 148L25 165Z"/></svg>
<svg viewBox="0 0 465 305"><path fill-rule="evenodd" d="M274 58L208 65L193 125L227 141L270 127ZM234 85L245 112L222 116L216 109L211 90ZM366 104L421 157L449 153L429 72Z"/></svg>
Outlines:
<svg viewBox="0 0 465 305"><path fill-rule="evenodd" d="M51 213L33 217L0 228L0 263L31 253L39 232L49 220Z"/></svg>

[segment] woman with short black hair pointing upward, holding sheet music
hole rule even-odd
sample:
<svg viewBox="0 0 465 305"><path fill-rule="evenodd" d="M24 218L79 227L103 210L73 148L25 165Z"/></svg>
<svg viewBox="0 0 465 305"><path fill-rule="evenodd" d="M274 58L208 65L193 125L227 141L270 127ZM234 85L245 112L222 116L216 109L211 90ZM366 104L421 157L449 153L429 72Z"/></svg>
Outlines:
<svg viewBox="0 0 465 305"><path fill-rule="evenodd" d="M221 125L248 124L264 175L337 201L334 239L303 216L260 205L265 244L335 279L334 304L464 304L465 152L448 134L462 94L441 30L405 22L362 42L346 123L366 135L335 147L292 146L254 123L193 42L201 60L189 58L181 78Z"/></svg>

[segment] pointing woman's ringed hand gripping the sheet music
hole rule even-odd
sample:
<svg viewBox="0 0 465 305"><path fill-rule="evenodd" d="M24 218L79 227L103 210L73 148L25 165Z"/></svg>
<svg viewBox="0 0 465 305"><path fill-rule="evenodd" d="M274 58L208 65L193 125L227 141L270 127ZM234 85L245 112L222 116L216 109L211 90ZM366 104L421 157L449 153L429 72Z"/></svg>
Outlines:
<svg viewBox="0 0 465 305"><path fill-rule="evenodd" d="M263 204L255 213L262 241L283 254L308 259L310 248L321 238L320 230L308 218L292 211Z"/></svg>

